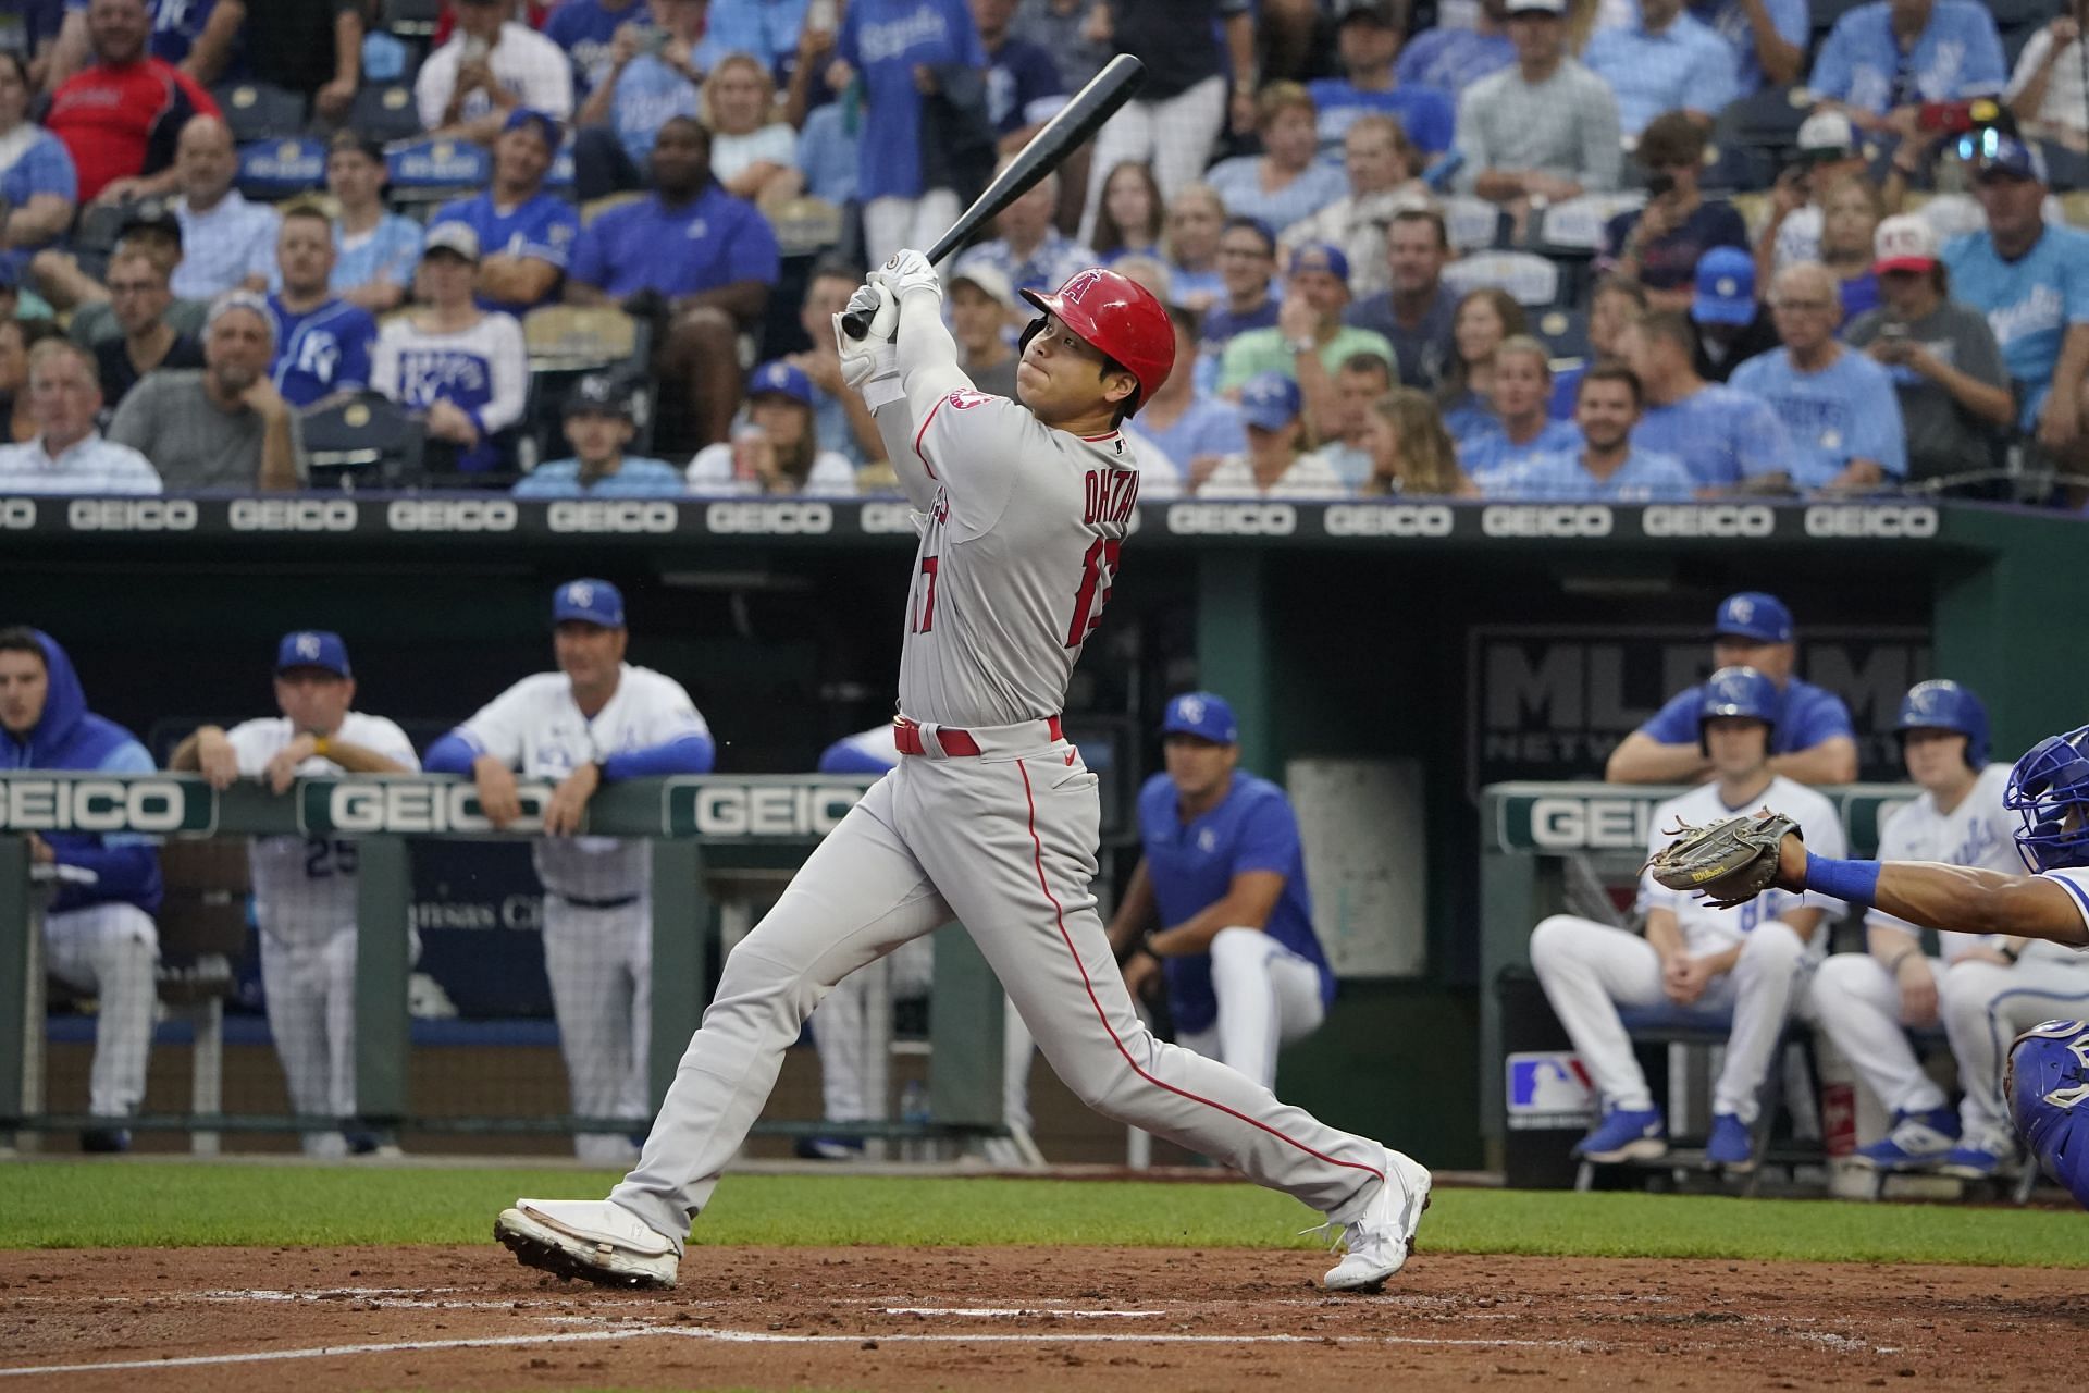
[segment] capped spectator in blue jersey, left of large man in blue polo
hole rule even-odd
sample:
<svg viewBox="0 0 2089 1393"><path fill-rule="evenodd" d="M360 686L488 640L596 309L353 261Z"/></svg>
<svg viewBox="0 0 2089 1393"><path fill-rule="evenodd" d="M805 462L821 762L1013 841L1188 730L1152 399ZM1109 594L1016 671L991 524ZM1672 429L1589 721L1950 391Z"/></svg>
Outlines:
<svg viewBox="0 0 2089 1393"><path fill-rule="evenodd" d="M560 278L581 236L572 205L543 186L558 155L558 121L516 107L493 140L493 182L487 192L445 203L430 228L466 223L478 238L478 303L526 315L558 299Z"/></svg>

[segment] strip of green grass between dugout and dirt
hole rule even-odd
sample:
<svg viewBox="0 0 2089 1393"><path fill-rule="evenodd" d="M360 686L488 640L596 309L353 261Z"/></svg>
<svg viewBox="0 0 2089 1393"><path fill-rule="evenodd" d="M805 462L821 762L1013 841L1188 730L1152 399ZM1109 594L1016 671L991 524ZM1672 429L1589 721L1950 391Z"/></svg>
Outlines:
<svg viewBox="0 0 2089 1393"><path fill-rule="evenodd" d="M487 1243L516 1195L608 1178L305 1165L0 1167L0 1247ZM1316 1222L1247 1184L729 1176L706 1245L1310 1247ZM1437 1190L1427 1251L2089 1268L2089 1213L1951 1205Z"/></svg>

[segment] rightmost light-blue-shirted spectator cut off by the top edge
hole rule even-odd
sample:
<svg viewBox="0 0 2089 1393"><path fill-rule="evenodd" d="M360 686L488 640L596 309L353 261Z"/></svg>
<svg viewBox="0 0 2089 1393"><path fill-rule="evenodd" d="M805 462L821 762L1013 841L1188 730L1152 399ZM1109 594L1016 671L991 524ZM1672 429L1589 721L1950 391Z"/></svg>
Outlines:
<svg viewBox="0 0 2089 1393"><path fill-rule="evenodd" d="M1845 10L1807 86L1863 129L1914 138L1922 102L1997 96L2010 81L1995 17L1976 0L1872 0Z"/></svg>

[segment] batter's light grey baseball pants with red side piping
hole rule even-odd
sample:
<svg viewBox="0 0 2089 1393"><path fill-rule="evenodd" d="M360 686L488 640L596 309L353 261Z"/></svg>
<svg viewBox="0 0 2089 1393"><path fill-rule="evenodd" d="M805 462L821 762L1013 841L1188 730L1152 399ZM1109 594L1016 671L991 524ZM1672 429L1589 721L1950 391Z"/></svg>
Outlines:
<svg viewBox="0 0 2089 1393"><path fill-rule="evenodd" d="M1005 752L900 760L733 948L646 1153L610 1199L681 1249L804 1017L848 973L959 919L1082 1103L1354 1218L1383 1178L1377 1142L1155 1040L1132 1011L1095 913L1101 810L1078 750L1042 723L973 735Z"/></svg>

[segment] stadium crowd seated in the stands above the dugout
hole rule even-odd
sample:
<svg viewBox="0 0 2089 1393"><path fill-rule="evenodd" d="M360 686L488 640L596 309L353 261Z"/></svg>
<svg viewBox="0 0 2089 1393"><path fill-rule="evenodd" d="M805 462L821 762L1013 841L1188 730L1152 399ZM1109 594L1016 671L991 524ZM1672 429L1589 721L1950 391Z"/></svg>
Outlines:
<svg viewBox="0 0 2089 1393"><path fill-rule="evenodd" d="M1013 393L1024 292L1155 290L1147 497L2081 478L2085 10L38 0L0 491L332 487L401 422L363 485L890 491L831 313L1113 52L1136 98L948 307Z"/></svg>

